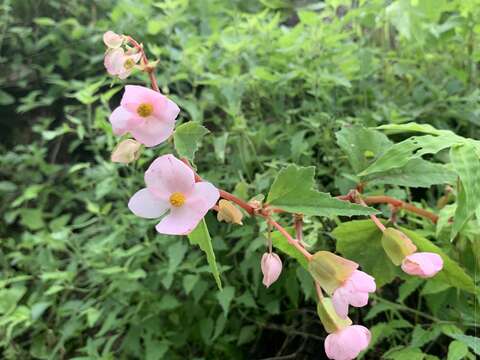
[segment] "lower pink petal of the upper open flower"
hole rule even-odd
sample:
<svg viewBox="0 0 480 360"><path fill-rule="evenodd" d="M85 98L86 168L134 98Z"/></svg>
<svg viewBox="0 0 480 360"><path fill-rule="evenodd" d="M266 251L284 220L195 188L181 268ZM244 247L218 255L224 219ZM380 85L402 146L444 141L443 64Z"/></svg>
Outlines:
<svg viewBox="0 0 480 360"><path fill-rule="evenodd" d="M153 117L132 127L130 132L133 137L147 147L157 146L167 140L175 127L174 122L166 122Z"/></svg>

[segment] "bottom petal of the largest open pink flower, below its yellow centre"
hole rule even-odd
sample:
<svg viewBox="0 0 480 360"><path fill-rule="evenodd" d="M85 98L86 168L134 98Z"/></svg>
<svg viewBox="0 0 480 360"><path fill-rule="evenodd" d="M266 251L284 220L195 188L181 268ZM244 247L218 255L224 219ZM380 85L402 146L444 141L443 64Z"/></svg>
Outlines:
<svg viewBox="0 0 480 360"><path fill-rule="evenodd" d="M186 235L195 229L202 220L195 209L183 205L182 207L170 209L170 213L155 227L160 234Z"/></svg>

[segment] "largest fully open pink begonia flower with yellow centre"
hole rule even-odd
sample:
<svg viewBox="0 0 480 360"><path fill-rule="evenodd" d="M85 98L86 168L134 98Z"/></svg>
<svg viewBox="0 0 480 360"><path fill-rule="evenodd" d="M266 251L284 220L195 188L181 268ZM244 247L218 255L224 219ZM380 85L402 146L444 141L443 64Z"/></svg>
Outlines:
<svg viewBox="0 0 480 360"><path fill-rule="evenodd" d="M209 182L195 182L192 169L168 154L155 159L145 172L146 188L137 191L128 208L137 216L155 219L161 234L189 234L220 197Z"/></svg>

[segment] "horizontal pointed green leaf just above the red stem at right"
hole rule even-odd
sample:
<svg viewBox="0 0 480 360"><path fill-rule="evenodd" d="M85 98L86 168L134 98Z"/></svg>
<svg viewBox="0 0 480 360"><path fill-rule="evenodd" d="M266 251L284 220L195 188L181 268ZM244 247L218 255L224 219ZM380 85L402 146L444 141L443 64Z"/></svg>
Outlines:
<svg viewBox="0 0 480 360"><path fill-rule="evenodd" d="M445 165L412 159L401 168L375 173L366 180L372 185L430 187L435 184L454 184L456 177L457 175Z"/></svg>

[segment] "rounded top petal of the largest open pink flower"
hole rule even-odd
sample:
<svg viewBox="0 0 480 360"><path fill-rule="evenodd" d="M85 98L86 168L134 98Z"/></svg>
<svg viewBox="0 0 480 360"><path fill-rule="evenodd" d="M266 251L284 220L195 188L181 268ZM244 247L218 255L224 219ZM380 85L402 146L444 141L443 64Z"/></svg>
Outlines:
<svg viewBox="0 0 480 360"><path fill-rule="evenodd" d="M174 192L187 195L193 191L195 177L192 169L185 163L168 154L158 157L148 167L145 183L156 196L168 200Z"/></svg>

